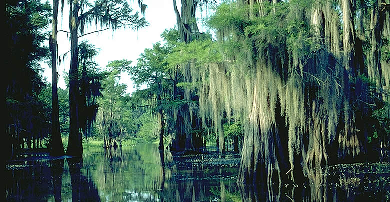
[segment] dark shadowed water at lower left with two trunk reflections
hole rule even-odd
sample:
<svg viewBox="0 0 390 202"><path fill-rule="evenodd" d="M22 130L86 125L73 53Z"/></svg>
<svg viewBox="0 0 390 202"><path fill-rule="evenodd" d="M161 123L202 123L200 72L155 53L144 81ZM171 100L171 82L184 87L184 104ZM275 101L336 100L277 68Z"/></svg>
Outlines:
<svg viewBox="0 0 390 202"><path fill-rule="evenodd" d="M100 201L91 178L81 172L82 160L40 159L7 165L7 201ZM70 176L69 176L70 174ZM71 193L71 197L69 194Z"/></svg>

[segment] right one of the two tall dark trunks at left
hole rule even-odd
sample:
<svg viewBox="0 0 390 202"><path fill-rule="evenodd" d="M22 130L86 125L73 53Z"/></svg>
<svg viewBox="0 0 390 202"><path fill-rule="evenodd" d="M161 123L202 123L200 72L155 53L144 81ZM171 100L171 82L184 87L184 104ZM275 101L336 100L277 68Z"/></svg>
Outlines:
<svg viewBox="0 0 390 202"><path fill-rule="evenodd" d="M70 128L69 143L66 151L67 155L82 156L82 136L79 133L79 114L78 114L78 11L80 5L78 0L72 0L70 3L71 17L69 21L71 32L71 60L69 69L69 109L70 109Z"/></svg>

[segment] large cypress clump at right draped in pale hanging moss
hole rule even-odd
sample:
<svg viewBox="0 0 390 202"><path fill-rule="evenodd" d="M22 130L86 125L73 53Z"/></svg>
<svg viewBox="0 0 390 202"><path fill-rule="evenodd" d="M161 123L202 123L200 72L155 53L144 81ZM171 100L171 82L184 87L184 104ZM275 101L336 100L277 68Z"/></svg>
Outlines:
<svg viewBox="0 0 390 202"><path fill-rule="evenodd" d="M349 0L250 0L222 4L211 18L223 61L191 69L198 74L192 81L199 114L213 120L217 133L224 114L244 123L239 183L280 183L285 175L293 179L294 173L367 154L366 128L381 100L364 78L366 41L356 36L355 20L363 20L354 17L356 9ZM388 16L384 6L381 15ZM372 41L388 37L387 24ZM376 63L388 65L374 55ZM388 75L383 69L382 77ZM379 78L376 87L386 93L388 79L370 77Z"/></svg>

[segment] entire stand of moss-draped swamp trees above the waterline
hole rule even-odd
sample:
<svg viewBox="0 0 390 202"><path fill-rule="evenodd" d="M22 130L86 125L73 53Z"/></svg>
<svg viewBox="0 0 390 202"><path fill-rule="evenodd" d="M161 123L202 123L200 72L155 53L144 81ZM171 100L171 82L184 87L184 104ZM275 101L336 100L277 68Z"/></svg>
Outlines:
<svg viewBox="0 0 390 202"><path fill-rule="evenodd" d="M160 150L186 152L217 142L221 156L230 141L241 153L239 183L279 185L324 165L388 160L388 0L224 2L207 19L215 37L199 31L196 9L216 2L181 0L181 10L173 2L177 30L164 31L163 41L136 64L124 59L99 69L93 45L78 42L85 25L136 29L147 23L124 0L70 1L66 105L55 97L67 92L51 96L37 65L49 52L42 31L50 6L7 1L8 43L18 55L10 57L16 68L6 88L10 150L42 147L42 139L60 145L54 137L61 132L69 134L67 154L75 156L88 136L102 138L104 147L127 137L158 139ZM142 88L125 94L121 73ZM63 149L54 147L60 155Z"/></svg>

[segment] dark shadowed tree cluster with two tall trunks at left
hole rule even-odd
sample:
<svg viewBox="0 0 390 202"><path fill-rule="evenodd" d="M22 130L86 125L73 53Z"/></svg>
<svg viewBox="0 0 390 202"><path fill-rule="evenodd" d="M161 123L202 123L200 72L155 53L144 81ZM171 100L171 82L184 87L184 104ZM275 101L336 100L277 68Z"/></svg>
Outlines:
<svg viewBox="0 0 390 202"><path fill-rule="evenodd" d="M61 11L64 3L62 0ZM92 22L95 22L96 26L112 29L119 27L138 29L147 26L147 22L138 15L138 12L133 12L126 0L99 0L95 4L90 4L86 0L72 0L68 3L71 13L69 19L71 67L68 76L67 153L81 155L82 137L91 132L97 114L96 97L101 95L101 80L107 73L96 69L93 62L96 50L87 43L79 44L78 38L83 36L84 27ZM62 155L60 128L64 125L60 124L59 119L64 108L60 108L61 101L58 99L56 70L59 2L54 0L53 8L48 2L42 3L38 0L8 0L4 5L6 41L9 49L6 63L14 66L10 68L10 75L5 81L7 118L4 129L11 143L7 148L11 154L9 156L12 156L15 150L24 147L52 148L51 154ZM47 37L48 33L45 31L50 24L51 11L53 29L51 37ZM49 40L49 48L43 45L45 40ZM46 83L41 78L39 62L44 58L50 58L49 51L52 53L51 66L54 78L52 103L39 99L48 98L47 94L40 95L46 92L45 90L42 92ZM50 142L49 145L42 146L42 140L45 140L45 143Z"/></svg>

